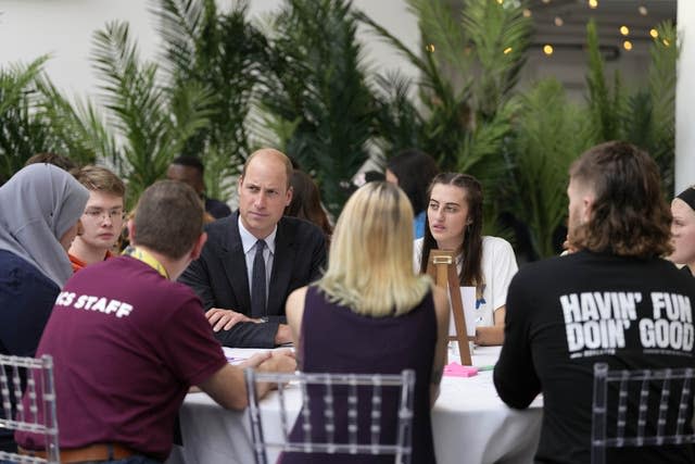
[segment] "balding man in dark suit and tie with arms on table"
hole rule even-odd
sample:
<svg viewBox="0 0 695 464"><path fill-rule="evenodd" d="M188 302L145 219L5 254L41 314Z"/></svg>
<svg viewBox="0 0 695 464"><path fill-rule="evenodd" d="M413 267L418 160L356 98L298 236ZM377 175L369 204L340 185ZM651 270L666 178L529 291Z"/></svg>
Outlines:
<svg viewBox="0 0 695 464"><path fill-rule="evenodd" d="M292 163L277 150L249 156L239 178L239 211L206 226L205 248L180 278L203 300L225 346L292 341L285 300L316 280L326 263L320 229L282 216L292 199L291 175Z"/></svg>

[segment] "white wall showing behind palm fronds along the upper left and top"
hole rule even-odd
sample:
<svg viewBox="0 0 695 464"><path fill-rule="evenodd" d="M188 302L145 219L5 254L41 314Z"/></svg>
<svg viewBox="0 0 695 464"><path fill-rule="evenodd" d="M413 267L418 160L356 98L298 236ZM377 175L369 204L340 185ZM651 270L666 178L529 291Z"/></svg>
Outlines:
<svg viewBox="0 0 695 464"><path fill-rule="evenodd" d="M222 9L230 0L220 0ZM141 58L155 59L160 38L148 0L0 0L0 66L28 63L50 53L46 71L53 83L73 95L94 95L98 80L89 62L92 35L113 20L127 21L137 38ZM280 0L251 0L250 14L258 17L281 4ZM356 0L377 22L415 49L419 41L416 18L403 0ZM370 39L370 36L366 36ZM400 68L415 76L415 68L378 40L368 40L367 59L379 70Z"/></svg>

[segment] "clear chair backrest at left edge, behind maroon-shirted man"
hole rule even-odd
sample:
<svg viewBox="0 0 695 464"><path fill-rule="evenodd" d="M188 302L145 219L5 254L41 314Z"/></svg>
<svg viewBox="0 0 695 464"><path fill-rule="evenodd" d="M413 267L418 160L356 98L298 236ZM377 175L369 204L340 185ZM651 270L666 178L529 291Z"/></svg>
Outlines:
<svg viewBox="0 0 695 464"><path fill-rule="evenodd" d="M60 463L53 359L48 354L40 359L0 355L0 429L39 434L46 440L46 459L0 451L0 461ZM28 411L22 403L23 394Z"/></svg>

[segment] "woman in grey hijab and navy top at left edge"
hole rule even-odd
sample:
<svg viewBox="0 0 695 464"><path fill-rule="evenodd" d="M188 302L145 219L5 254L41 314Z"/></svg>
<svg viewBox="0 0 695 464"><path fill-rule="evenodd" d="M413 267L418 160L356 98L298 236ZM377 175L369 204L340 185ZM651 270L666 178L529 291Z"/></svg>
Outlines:
<svg viewBox="0 0 695 464"><path fill-rule="evenodd" d="M0 353L33 356L61 288L89 191L51 164L0 187Z"/></svg>

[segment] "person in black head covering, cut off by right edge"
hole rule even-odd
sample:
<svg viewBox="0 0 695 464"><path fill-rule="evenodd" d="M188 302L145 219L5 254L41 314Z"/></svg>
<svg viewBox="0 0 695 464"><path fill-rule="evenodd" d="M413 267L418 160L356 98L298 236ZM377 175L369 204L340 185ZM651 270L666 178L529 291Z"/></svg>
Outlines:
<svg viewBox="0 0 695 464"><path fill-rule="evenodd" d="M673 254L670 260L683 264L683 272L695 272L695 187L688 187L671 202L671 236Z"/></svg>

